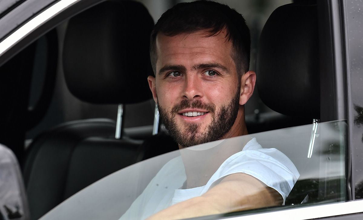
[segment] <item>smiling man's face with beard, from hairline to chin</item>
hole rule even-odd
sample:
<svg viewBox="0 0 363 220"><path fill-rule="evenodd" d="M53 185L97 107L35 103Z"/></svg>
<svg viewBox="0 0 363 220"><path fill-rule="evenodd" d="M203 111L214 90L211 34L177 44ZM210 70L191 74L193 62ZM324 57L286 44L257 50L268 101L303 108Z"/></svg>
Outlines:
<svg viewBox="0 0 363 220"><path fill-rule="evenodd" d="M232 43L224 30L206 34L156 39L156 76L149 84L164 125L181 147L224 138L244 104Z"/></svg>

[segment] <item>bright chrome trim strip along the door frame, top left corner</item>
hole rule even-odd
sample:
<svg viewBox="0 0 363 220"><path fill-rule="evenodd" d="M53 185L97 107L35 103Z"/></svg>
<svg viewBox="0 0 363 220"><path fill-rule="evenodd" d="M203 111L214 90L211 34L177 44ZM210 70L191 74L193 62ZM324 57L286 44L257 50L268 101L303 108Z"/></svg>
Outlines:
<svg viewBox="0 0 363 220"><path fill-rule="evenodd" d="M38 16L32 18L28 22L26 22L19 29L14 31L11 35L5 38L2 42L0 42L0 56L2 56L5 52L7 52L12 46L16 45L19 41L29 35L33 30L37 27L44 24L49 19L53 18L64 9L70 7L71 5L77 3L80 0L60 0L54 5L50 6Z"/></svg>

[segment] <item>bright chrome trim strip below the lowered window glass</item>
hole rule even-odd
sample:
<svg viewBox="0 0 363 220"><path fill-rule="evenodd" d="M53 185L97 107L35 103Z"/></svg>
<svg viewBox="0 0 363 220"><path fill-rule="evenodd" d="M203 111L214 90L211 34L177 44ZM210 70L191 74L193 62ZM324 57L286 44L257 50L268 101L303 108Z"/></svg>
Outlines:
<svg viewBox="0 0 363 220"><path fill-rule="evenodd" d="M257 213L246 216L231 217L229 220L260 220L260 219L278 219L278 220L305 220L338 215L347 215L363 212L363 200L350 202L341 202L309 207L297 207L280 211L270 211Z"/></svg>

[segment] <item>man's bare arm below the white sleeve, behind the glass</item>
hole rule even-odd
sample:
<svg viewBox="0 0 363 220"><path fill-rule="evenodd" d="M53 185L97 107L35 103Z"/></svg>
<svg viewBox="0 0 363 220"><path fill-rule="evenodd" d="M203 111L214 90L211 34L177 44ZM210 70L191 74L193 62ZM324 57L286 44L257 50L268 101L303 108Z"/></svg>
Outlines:
<svg viewBox="0 0 363 220"><path fill-rule="evenodd" d="M205 194L166 208L148 220L185 219L268 206L278 206L282 196L258 179L234 173L209 189Z"/></svg>

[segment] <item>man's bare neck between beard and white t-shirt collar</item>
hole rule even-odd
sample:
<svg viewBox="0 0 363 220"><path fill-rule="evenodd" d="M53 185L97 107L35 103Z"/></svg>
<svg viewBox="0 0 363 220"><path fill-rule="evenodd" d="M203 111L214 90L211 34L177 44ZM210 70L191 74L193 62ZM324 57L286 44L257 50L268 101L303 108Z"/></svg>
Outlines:
<svg viewBox="0 0 363 220"><path fill-rule="evenodd" d="M233 126L221 139L248 134L245 123L244 106L239 107L237 118ZM187 189L204 186L220 165L227 160L228 157L240 152L250 138L244 140L245 141L242 142L237 141L236 143L233 143L233 140L223 141L212 148L201 151L188 148L183 149L183 151L181 151L181 157L183 158L185 174L187 175Z"/></svg>

